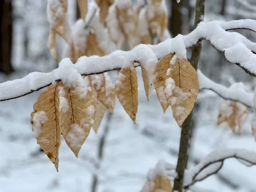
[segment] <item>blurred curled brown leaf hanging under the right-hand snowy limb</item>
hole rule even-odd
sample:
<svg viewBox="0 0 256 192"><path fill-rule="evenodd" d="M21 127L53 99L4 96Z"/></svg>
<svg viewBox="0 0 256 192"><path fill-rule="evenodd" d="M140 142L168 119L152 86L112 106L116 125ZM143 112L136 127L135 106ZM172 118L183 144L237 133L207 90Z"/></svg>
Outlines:
<svg viewBox="0 0 256 192"><path fill-rule="evenodd" d="M236 131L236 126L238 126L238 131L241 133L247 116L247 106L239 102L223 100L220 105L218 125L227 122L233 133Z"/></svg>

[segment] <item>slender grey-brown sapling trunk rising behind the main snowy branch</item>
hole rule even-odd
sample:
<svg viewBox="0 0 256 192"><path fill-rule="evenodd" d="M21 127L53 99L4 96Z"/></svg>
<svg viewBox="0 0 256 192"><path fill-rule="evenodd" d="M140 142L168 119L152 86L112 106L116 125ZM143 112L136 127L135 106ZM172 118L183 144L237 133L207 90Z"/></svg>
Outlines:
<svg viewBox="0 0 256 192"><path fill-rule="evenodd" d="M197 0L194 28L196 28L199 22L203 20L204 12L205 12L205 0ZM195 69L197 69L197 64L200 58L201 49L202 49L202 45L201 45L201 42L199 42L193 47L193 50L192 50L192 56L191 56L190 62ZM179 157L178 157L178 162L176 167L176 172L178 176L174 179L173 191L177 190L179 192L182 192L182 189L183 189L183 177L184 177L185 168L187 166L187 158L188 158L189 132L190 132L191 119L192 119L192 111L181 126Z"/></svg>

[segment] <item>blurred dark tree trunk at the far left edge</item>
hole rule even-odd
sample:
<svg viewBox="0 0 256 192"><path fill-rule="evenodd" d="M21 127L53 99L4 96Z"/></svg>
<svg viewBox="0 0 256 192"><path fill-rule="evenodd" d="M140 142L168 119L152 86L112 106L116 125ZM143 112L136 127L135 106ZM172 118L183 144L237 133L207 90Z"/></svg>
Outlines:
<svg viewBox="0 0 256 192"><path fill-rule="evenodd" d="M11 65L13 17L11 0L0 1L0 71L9 74Z"/></svg>

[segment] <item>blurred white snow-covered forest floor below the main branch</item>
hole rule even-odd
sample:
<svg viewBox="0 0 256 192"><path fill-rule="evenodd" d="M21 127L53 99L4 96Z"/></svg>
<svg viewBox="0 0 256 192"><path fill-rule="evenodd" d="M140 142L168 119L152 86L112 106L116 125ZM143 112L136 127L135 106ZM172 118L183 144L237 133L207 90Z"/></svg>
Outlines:
<svg viewBox="0 0 256 192"><path fill-rule="evenodd" d="M146 174L158 160L176 164L180 128L169 107L164 114L154 93L149 102L143 88L140 69L139 108L136 125L116 99L115 112L110 122L102 121L96 135L91 130L77 159L62 138L59 151L59 172L36 144L30 124L33 104L41 91L22 98L0 102L0 192L90 192L92 176L99 175L98 192L140 191ZM111 73L113 79L116 72ZM11 78L18 78L11 76ZM112 79L112 80L113 80ZM0 82L8 80L0 75ZM221 99L209 92L200 92L199 111L192 132L188 167L195 166L208 153L218 148L244 148L256 151L251 135L250 117L242 134L232 134L224 125L217 126ZM250 114L252 115L252 114ZM105 115L106 117L106 115ZM106 136L100 170L95 169L100 135L106 123ZM220 172L197 186L213 191L256 191L256 166L245 167L235 159L226 160Z"/></svg>

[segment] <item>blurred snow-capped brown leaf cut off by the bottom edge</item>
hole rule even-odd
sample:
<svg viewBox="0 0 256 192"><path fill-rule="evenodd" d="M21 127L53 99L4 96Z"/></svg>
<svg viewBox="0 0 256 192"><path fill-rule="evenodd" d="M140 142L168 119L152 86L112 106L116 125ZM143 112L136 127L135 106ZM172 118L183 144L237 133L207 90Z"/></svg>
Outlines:
<svg viewBox="0 0 256 192"><path fill-rule="evenodd" d="M172 192L172 184L168 177L156 175L154 180L148 179L141 192Z"/></svg>

